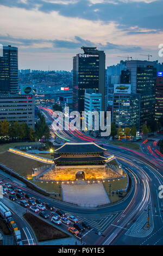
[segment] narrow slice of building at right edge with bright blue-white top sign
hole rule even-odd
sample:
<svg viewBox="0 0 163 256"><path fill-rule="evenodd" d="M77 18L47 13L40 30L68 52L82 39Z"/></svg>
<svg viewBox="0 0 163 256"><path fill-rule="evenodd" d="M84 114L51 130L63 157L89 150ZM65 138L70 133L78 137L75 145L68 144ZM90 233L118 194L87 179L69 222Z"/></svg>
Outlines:
<svg viewBox="0 0 163 256"><path fill-rule="evenodd" d="M163 115L163 72L158 72L155 89L155 120Z"/></svg>

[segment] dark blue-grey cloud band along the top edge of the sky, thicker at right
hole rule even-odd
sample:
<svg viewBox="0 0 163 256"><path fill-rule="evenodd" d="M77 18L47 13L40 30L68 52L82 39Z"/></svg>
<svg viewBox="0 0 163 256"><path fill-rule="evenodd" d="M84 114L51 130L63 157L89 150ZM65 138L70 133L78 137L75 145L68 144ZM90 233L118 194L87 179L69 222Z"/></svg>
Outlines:
<svg viewBox="0 0 163 256"><path fill-rule="evenodd" d="M65 17L115 22L126 28L137 26L163 31L162 0L0 0L0 5L26 10L35 9L47 14L57 11Z"/></svg>

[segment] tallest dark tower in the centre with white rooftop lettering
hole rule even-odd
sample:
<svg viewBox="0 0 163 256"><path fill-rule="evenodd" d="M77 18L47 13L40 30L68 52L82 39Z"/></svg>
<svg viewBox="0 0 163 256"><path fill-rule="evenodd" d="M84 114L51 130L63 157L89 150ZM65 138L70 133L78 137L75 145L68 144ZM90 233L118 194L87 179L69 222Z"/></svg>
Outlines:
<svg viewBox="0 0 163 256"><path fill-rule="evenodd" d="M95 89L102 94L102 111L105 111L105 53L96 47L81 48L84 54L73 57L73 110L84 111L85 89Z"/></svg>

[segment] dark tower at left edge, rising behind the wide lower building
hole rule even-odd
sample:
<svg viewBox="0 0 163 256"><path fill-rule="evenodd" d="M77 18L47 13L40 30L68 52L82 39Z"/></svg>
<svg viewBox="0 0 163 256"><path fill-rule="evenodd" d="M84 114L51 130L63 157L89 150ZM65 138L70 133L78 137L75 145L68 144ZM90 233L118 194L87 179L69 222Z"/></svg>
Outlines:
<svg viewBox="0 0 163 256"><path fill-rule="evenodd" d="M3 56L0 56L0 93L18 93L17 47L3 47Z"/></svg>

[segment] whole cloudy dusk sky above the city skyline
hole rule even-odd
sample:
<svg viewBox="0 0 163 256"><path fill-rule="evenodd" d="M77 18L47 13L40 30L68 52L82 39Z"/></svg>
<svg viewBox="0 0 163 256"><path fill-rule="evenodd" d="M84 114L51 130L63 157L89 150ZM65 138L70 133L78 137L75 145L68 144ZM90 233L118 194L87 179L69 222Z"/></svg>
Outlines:
<svg viewBox="0 0 163 256"><path fill-rule="evenodd" d="M82 46L163 62L162 0L0 0L0 44L18 47L18 69L72 70ZM120 57L119 57L120 56Z"/></svg>

